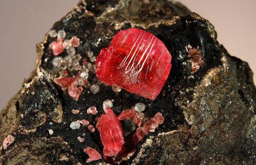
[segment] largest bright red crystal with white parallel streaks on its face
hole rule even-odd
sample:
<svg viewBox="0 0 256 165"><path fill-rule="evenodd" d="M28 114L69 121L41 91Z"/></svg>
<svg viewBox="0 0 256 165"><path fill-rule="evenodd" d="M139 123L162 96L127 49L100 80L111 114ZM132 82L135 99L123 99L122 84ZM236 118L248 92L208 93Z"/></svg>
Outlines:
<svg viewBox="0 0 256 165"><path fill-rule="evenodd" d="M96 60L96 75L108 85L154 100L161 91L172 56L155 35L140 29L122 30L102 49Z"/></svg>

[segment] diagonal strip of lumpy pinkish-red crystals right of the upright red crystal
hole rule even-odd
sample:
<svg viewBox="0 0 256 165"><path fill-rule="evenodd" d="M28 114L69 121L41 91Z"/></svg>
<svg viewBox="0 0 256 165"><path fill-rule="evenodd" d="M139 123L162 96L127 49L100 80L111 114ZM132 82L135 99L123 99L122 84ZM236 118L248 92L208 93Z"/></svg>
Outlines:
<svg viewBox="0 0 256 165"><path fill-rule="evenodd" d="M157 112L155 116L143 124L143 127L136 129L136 132L133 135L133 142L138 144L140 140L146 136L148 132L154 132L158 125L163 124L164 117L162 113Z"/></svg>

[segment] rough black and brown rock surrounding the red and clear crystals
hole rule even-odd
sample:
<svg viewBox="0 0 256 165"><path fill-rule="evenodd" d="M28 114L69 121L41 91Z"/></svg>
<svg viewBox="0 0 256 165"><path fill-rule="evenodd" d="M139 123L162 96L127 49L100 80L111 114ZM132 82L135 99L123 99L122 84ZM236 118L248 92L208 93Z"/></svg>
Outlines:
<svg viewBox="0 0 256 165"><path fill-rule="evenodd" d="M0 164L86 164L86 147L102 155L98 131L92 133L82 125L73 130L70 124L86 119L95 127L97 117L104 113L102 103L106 99L114 101L116 115L144 103L142 121L157 112L163 114L165 121L133 146L132 154L115 162L99 159L90 164L256 162L256 90L252 71L246 62L230 56L218 43L208 20L167 0L83 0L52 29L65 30L66 38L77 36L80 45L76 52L90 61L86 55L89 50L97 56L118 31L131 27L156 35L173 56L172 70L157 99L151 101L125 90L115 93L111 86L99 82L92 70L88 80L97 84L99 91L94 94L89 87L83 87L75 101L68 89L63 91L54 82L59 71L52 64L55 56L49 45L53 38L47 33L37 45L35 70L1 111ZM91 106L96 106L99 113L87 114L86 109ZM83 113L74 114L72 109ZM127 120L122 122L122 129L129 135L136 126ZM10 134L14 142L3 149L4 139ZM78 136L84 142L79 142Z"/></svg>

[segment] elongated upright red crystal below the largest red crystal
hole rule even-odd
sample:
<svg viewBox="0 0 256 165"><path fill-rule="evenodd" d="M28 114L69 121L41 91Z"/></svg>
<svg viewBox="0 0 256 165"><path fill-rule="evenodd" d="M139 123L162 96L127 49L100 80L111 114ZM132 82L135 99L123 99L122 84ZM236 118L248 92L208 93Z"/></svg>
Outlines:
<svg viewBox="0 0 256 165"><path fill-rule="evenodd" d="M120 121L112 109L105 111L98 118L97 129L100 133L100 139L104 146L103 154L105 156L117 155L123 146L123 132Z"/></svg>

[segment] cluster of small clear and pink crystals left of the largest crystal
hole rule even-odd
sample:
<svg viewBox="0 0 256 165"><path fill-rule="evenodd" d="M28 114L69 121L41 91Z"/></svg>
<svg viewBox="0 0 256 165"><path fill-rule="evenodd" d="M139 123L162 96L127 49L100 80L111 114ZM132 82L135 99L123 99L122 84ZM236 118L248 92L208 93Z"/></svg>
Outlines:
<svg viewBox="0 0 256 165"><path fill-rule="evenodd" d="M50 49L53 50L55 56L62 53L64 50L67 51L67 56L65 57L55 57L52 60L54 68L57 69L59 77L55 78L54 81L62 87L62 90L68 88L69 95L78 101L81 92L83 91L82 86L90 87L92 93L97 93L99 91L99 86L97 84L91 85L88 81L89 71L95 73L96 71L96 57L92 51L87 52L87 59L82 59L80 54L77 54L76 47L80 44L80 39L77 36L73 36L71 39L65 39L66 32L60 30L51 30L49 36L52 38L57 37L57 42L53 41L50 44ZM76 72L78 71L78 73ZM77 75L69 77L69 73ZM78 86L79 85L79 86Z"/></svg>

